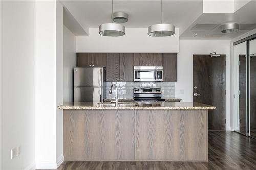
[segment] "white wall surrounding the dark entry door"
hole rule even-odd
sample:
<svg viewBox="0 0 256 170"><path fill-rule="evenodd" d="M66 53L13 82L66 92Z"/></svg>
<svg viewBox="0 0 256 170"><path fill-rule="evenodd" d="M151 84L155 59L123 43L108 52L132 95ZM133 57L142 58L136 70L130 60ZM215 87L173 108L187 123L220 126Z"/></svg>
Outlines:
<svg viewBox="0 0 256 170"><path fill-rule="evenodd" d="M193 102L193 54L226 54L226 130L230 130L230 40L180 40L175 97Z"/></svg>

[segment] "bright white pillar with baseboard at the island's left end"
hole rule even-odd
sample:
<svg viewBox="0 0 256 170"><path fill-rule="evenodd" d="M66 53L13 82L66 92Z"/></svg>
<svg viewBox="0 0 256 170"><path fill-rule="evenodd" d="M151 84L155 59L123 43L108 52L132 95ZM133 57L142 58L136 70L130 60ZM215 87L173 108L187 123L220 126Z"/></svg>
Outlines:
<svg viewBox="0 0 256 170"><path fill-rule="evenodd" d="M36 167L56 168L62 161L62 7L36 1ZM47 12L46 12L47 11Z"/></svg>

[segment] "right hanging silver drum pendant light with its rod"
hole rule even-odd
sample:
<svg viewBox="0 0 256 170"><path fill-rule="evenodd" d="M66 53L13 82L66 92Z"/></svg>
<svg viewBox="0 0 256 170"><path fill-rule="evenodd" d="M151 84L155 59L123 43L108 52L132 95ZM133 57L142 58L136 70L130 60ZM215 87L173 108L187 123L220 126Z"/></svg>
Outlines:
<svg viewBox="0 0 256 170"><path fill-rule="evenodd" d="M166 36L174 35L175 33L174 25L169 23L162 23L162 0L161 0L160 13L161 13L161 23L148 27L148 35L152 37L166 37Z"/></svg>

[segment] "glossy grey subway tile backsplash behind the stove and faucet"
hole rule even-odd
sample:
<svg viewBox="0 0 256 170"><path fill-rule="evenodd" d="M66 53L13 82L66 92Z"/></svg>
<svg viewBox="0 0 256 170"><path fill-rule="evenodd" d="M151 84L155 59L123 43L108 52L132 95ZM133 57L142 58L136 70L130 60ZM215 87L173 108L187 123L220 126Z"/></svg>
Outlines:
<svg viewBox="0 0 256 170"><path fill-rule="evenodd" d="M118 97L133 98L133 89L136 87L157 87L162 89L162 98L174 98L175 86L174 82L105 82L106 98L114 97L115 90L112 95L109 94L109 89L112 84L116 84L118 88Z"/></svg>

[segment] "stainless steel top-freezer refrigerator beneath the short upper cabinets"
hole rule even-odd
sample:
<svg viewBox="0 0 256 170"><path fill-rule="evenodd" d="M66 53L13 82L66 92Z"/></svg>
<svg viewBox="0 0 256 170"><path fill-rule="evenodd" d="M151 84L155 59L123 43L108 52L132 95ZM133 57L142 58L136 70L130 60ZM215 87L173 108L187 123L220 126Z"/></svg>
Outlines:
<svg viewBox="0 0 256 170"><path fill-rule="evenodd" d="M104 67L74 68L74 102L103 102Z"/></svg>

